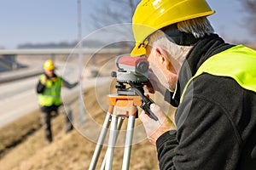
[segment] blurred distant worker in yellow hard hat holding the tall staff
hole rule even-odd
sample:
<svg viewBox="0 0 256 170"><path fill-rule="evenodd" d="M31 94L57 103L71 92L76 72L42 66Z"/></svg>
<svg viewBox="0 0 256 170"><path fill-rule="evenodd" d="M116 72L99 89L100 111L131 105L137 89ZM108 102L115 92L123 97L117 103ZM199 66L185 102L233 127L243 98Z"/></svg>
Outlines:
<svg viewBox="0 0 256 170"><path fill-rule="evenodd" d="M38 103L42 111L41 121L44 127L46 143L52 142L52 131L51 131L51 113L58 113L61 101L61 86L62 82L64 87L74 88L77 86L78 82L73 84L67 82L62 77L55 74L55 65L51 59L44 62L44 74L39 77L37 84ZM64 111L64 108L61 108ZM72 125L72 111L67 105L65 105L65 111L67 111L66 116L66 132L73 129Z"/></svg>

